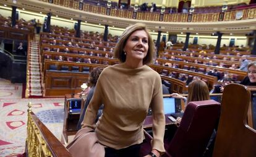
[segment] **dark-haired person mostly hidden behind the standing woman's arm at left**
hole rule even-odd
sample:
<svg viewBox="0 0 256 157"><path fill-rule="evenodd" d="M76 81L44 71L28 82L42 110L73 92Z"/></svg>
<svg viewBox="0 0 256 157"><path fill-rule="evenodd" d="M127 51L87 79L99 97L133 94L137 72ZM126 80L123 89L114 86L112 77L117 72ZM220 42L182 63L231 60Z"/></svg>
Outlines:
<svg viewBox="0 0 256 157"><path fill-rule="evenodd" d="M81 124L83 122L83 117L85 116L85 111L88 107L88 104L90 103L90 101L92 100L93 97L93 93L95 91L95 87L96 87L96 83L98 81L98 78L100 77L100 74L103 70L103 67L95 67L92 72L90 72L89 74L89 78L88 78L88 86L90 87L90 91L87 95L86 101L85 101L85 105L83 108L83 112L80 116L79 122L77 123L77 129L81 129ZM96 119L95 119L95 123L98 121L99 117L101 116L102 112L103 112L103 108L104 105L101 104L100 109L98 110Z"/></svg>

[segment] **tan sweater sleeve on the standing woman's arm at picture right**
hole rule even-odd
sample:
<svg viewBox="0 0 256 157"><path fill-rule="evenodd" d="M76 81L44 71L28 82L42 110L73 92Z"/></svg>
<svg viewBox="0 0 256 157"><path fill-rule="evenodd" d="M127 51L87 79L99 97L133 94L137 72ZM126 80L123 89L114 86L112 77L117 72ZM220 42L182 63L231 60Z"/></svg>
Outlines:
<svg viewBox="0 0 256 157"><path fill-rule="evenodd" d="M165 116L163 110L163 92L160 75L158 75L155 82L151 108L153 111L153 140L151 141L151 145L152 149L158 150L162 154L165 151L163 143Z"/></svg>

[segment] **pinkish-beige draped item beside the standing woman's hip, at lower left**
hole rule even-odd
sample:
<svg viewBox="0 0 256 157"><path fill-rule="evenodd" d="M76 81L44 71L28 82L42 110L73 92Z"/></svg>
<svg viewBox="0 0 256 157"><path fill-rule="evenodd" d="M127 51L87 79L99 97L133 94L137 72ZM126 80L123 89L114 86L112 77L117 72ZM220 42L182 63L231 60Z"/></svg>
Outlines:
<svg viewBox="0 0 256 157"><path fill-rule="evenodd" d="M98 143L96 133L90 127L80 129L66 148L74 157L105 156L105 147Z"/></svg>

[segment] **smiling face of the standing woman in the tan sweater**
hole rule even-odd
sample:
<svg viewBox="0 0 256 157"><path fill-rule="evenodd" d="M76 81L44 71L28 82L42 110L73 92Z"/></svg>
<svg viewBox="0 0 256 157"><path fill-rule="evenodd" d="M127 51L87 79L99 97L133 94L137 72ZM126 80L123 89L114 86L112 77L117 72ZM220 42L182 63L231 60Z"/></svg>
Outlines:
<svg viewBox="0 0 256 157"><path fill-rule="evenodd" d="M126 52L126 62L139 61L143 63L143 58L148 53L148 35L145 30L137 30L132 33L124 46Z"/></svg>

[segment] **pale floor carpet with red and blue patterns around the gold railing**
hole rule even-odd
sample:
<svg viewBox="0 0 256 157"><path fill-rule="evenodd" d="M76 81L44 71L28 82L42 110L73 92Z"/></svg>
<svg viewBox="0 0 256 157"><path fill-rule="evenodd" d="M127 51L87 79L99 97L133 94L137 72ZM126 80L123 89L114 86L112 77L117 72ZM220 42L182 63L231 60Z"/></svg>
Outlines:
<svg viewBox="0 0 256 157"><path fill-rule="evenodd" d="M27 104L61 140L64 98L22 99L22 85L0 78L0 156L18 156L25 151L27 137Z"/></svg>

